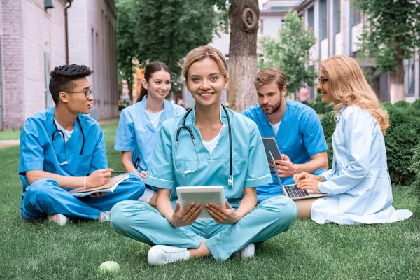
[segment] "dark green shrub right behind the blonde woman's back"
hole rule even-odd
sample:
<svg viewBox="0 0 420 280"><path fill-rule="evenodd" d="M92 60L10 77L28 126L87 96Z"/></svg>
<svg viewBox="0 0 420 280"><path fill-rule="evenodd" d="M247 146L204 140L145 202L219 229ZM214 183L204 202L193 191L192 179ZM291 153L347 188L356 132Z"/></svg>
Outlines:
<svg viewBox="0 0 420 280"><path fill-rule="evenodd" d="M420 118L397 106L389 106L388 114L391 126L386 130L385 146L389 174L393 183L407 185L414 179L409 167L420 140Z"/></svg>

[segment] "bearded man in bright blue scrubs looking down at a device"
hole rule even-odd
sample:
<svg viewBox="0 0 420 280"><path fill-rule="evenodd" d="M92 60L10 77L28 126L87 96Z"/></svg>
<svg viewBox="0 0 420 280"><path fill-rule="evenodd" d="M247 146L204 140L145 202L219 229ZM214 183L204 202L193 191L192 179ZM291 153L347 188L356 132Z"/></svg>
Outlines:
<svg viewBox="0 0 420 280"><path fill-rule="evenodd" d="M242 113L258 125L262 137L275 137L283 157L283 160L276 160L281 183L293 184L293 175L300 172L325 172L328 146L321 122L314 109L284 98L287 89L283 70L262 69L254 84L258 103ZM283 194L274 172L272 179L273 183L257 187L258 202Z"/></svg>

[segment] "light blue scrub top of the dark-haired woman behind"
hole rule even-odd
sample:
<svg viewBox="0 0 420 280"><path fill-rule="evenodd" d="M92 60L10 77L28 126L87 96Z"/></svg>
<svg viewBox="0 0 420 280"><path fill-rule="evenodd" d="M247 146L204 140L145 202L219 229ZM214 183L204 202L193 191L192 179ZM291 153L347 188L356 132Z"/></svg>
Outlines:
<svg viewBox="0 0 420 280"><path fill-rule="evenodd" d="M146 99L147 95L141 102L128 106L121 111L114 146L118 151L132 151L132 162L138 172L148 170L162 123L186 111L183 107L165 100L158 127L155 128L146 111Z"/></svg>

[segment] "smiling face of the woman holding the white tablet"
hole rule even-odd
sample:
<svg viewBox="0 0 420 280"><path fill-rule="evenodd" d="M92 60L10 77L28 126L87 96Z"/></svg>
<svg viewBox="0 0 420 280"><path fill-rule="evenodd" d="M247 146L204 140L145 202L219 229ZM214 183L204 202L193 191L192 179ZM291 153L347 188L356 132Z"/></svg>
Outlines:
<svg viewBox="0 0 420 280"><path fill-rule="evenodd" d="M228 87L216 61L209 57L194 62L188 69L186 86L197 104L211 106L220 104L223 90Z"/></svg>

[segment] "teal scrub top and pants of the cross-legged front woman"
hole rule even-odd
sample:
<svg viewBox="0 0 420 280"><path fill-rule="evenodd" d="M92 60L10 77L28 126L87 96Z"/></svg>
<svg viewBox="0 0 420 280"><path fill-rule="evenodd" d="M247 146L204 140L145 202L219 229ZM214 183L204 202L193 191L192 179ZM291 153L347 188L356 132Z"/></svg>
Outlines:
<svg viewBox="0 0 420 280"><path fill-rule="evenodd" d="M184 114L162 125L146 183L172 190L170 199L173 207L176 205L178 186L223 186L228 202L237 209L244 196L244 188L255 188L272 181L258 127L235 111L228 110L228 113L232 125L233 186L228 186L229 130L223 109L221 122L225 126L211 153L204 147L200 130L194 125L194 111L188 115L186 125L193 131L200 158L200 168L188 174L180 172L195 170L199 162L187 130L181 130L175 157L176 131L181 126ZM212 220L195 221L193 225L176 228L158 210L144 202L120 202L111 210L111 227L146 244L198 248L206 238L205 244L211 254L223 261L248 243L264 241L288 230L296 216L295 203L288 197L279 196L258 204L235 225L220 225Z"/></svg>

